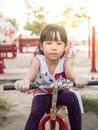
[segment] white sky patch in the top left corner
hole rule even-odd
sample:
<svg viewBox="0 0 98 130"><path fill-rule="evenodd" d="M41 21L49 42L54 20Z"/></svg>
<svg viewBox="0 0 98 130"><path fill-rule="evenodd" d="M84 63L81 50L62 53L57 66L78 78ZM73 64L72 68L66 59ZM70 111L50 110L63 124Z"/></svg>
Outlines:
<svg viewBox="0 0 98 130"><path fill-rule="evenodd" d="M24 11L24 0L0 0L0 12L5 17L14 17L20 23L25 18Z"/></svg>

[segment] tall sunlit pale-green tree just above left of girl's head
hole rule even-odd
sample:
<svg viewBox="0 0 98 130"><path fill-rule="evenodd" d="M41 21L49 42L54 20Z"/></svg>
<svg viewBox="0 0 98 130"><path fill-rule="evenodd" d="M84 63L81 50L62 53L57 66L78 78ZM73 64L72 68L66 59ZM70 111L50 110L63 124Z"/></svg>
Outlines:
<svg viewBox="0 0 98 130"><path fill-rule="evenodd" d="M42 28L46 25L44 7L36 5L36 3L31 5L28 1L25 1L25 3L28 9L28 17L24 29L31 31L31 35L39 35Z"/></svg>

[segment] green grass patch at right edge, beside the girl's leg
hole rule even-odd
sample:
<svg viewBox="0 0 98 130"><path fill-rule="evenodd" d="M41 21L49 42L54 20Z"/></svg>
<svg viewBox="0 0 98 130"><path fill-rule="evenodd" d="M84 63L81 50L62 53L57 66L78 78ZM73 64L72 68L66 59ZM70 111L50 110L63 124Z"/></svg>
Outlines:
<svg viewBox="0 0 98 130"><path fill-rule="evenodd" d="M82 96L83 106L85 112L94 112L98 114L98 99L86 98Z"/></svg>

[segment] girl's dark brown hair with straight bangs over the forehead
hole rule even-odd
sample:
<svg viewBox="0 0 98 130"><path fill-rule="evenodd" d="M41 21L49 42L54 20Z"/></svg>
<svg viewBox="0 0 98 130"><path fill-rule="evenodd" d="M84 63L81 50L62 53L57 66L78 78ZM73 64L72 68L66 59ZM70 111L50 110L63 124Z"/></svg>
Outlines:
<svg viewBox="0 0 98 130"><path fill-rule="evenodd" d="M39 39L39 47L38 52L40 54L43 54L43 52L40 50L40 44L43 44L44 41L58 41L58 33L60 36L60 40L65 43L65 46L67 46L67 33L63 26L56 25L56 24L49 24L46 25L45 28L42 30L40 34Z"/></svg>

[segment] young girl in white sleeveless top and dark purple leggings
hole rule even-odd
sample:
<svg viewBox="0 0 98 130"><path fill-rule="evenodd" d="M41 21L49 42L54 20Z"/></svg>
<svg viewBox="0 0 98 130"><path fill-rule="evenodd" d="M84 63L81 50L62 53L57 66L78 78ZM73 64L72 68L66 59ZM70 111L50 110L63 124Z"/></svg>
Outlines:
<svg viewBox="0 0 98 130"><path fill-rule="evenodd" d="M70 59L65 57L67 34L62 26L50 24L41 32L39 53L32 59L29 72L22 80L15 82L15 87L21 92L29 91L31 81L35 83L52 83L64 81L66 77L75 82L76 87L85 86L88 81L78 78L73 73ZM31 112L25 130L38 130L40 119L51 106L52 92L48 89L34 90ZM81 110L76 95L64 89L59 89L57 105L65 105L71 130L81 130Z"/></svg>

